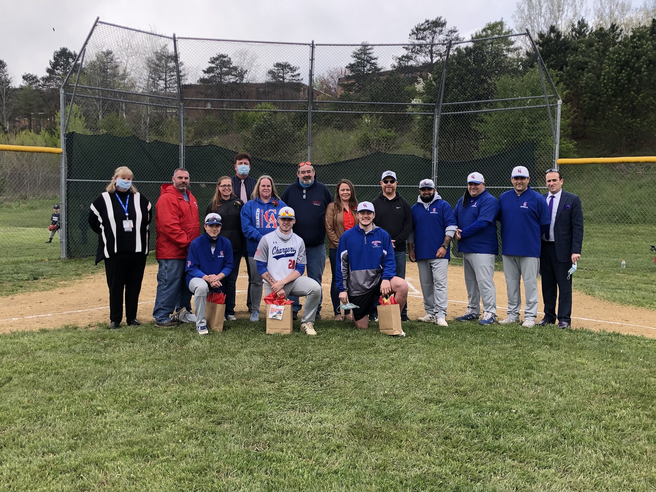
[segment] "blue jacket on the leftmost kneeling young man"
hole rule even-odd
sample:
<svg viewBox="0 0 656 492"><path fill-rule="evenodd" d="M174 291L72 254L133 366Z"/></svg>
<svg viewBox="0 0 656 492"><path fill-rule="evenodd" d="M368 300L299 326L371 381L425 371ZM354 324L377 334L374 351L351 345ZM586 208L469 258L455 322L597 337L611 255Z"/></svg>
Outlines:
<svg viewBox="0 0 656 492"><path fill-rule="evenodd" d="M187 287L192 278L203 278L206 275L224 274L230 275L235 262L232 259L232 245L230 241L223 236L216 238L216 247L214 255L212 254L212 245L209 242L207 233L198 236L189 245L186 264L186 281Z"/></svg>

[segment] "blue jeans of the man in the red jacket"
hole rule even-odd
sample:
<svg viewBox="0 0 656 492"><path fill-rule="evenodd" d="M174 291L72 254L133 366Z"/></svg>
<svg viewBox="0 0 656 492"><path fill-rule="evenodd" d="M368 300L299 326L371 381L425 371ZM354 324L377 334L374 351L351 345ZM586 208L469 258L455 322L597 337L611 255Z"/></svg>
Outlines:
<svg viewBox="0 0 656 492"><path fill-rule="evenodd" d="M171 321L175 308L187 308L192 311L192 293L187 288L184 267L187 260L157 260L157 297L153 318L160 325Z"/></svg>

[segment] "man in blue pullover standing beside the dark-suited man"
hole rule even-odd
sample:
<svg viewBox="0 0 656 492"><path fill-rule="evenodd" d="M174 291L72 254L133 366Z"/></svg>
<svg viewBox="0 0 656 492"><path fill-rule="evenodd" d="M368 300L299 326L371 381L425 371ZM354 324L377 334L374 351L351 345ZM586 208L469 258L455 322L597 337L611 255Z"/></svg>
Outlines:
<svg viewBox="0 0 656 492"><path fill-rule="evenodd" d="M524 281L526 305L522 326L535 325L537 316L537 273L540 269L541 236L549 230L551 217L543 195L531 190L529 171L524 166L512 170L513 190L499 197L503 274L508 290L508 317L501 325L518 323L522 307L520 280Z"/></svg>

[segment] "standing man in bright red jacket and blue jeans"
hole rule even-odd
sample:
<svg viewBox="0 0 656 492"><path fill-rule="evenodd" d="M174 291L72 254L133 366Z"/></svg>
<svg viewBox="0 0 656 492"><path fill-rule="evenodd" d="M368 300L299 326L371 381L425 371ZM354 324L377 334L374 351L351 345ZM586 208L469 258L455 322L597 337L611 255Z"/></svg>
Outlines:
<svg viewBox="0 0 656 492"><path fill-rule="evenodd" d="M161 186L155 213L155 258L157 297L153 318L157 326L176 326L171 314L180 308L192 309L192 293L185 282L185 262L189 245L200 236L198 203L189 191L189 171L173 173L173 184Z"/></svg>

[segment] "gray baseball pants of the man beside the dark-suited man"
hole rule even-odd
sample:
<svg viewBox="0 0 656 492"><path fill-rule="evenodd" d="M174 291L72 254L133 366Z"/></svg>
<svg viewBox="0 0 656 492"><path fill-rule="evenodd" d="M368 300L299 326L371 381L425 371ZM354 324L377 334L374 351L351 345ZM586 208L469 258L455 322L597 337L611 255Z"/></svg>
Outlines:
<svg viewBox="0 0 656 492"><path fill-rule="evenodd" d="M540 270L540 258L533 256L503 255L503 274L506 276L508 290L508 318L520 319L522 291L520 280L524 281L526 306L524 320L537 318L537 272Z"/></svg>

